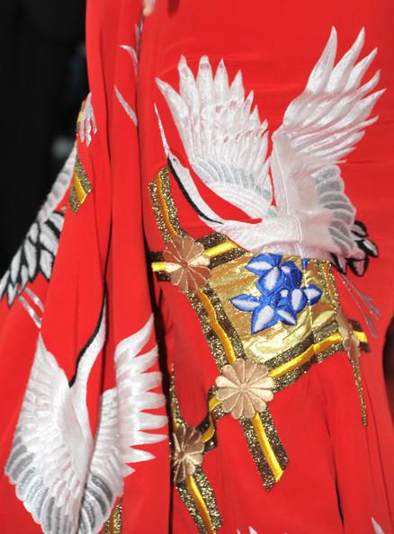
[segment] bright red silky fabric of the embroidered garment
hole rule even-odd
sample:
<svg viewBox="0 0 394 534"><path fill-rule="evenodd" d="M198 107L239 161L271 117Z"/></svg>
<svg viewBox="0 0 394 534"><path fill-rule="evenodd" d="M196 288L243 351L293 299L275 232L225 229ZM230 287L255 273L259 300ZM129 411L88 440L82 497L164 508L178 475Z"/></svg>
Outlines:
<svg viewBox="0 0 394 534"><path fill-rule="evenodd" d="M260 115L270 131L282 123L289 102L300 94L324 48L332 25L339 38L338 56L366 28L366 52L379 48L373 66L381 68L387 92L376 106L380 120L342 165L346 192L380 249L366 275L355 280L381 310L379 337L369 336L372 352L363 355L363 384L368 426L363 427L354 375L345 352L312 367L275 396L273 420L290 458L278 485L266 492L246 448L240 426L230 417L218 423L219 447L204 458L204 472L214 488L223 517L223 534L373 534L371 518L384 534L394 534L394 438L384 386L381 354L394 310L394 7L390 0L321 4L306 0L247 4L217 0L158 0L144 21L139 83L121 45L135 47L139 3L131 0L88 3L87 58L97 134L78 152L93 191L73 214L67 208L58 256L48 284L41 275L31 284L45 304L42 335L59 365L71 378L76 355L97 324L107 292L108 334L88 387L94 429L101 393L113 387L113 352L126 336L148 320L152 302L164 325L166 368L175 364L176 390L184 420L197 425L206 414L207 393L218 376L201 324L189 301L171 283L149 287L145 240L151 251L165 244L157 229L148 191L166 165L154 103L176 156L187 160L155 78L178 88L177 64L184 55L196 73L204 54L216 68L225 59L233 79L242 69L246 93L255 91ZM373 70L373 67L372 67ZM138 110L139 130L122 109L113 87ZM183 227L197 239L210 233L172 180ZM236 212L201 185L204 198L220 215ZM60 203L63 206L67 198ZM352 274L350 275L355 278ZM337 277L347 316L362 320L354 300ZM0 468L8 458L37 340L37 328L15 301L0 302L1 404ZM363 325L366 332L366 325ZM150 345L154 343L152 339ZM157 410L164 414L164 408ZM162 431L160 431L162 432ZM167 441L148 446L155 459L136 464L125 478L122 499L124 534L185 534L197 528L170 483ZM0 477L4 532L40 532ZM340 505L338 504L340 503ZM55 533L54 533L55 534Z"/></svg>

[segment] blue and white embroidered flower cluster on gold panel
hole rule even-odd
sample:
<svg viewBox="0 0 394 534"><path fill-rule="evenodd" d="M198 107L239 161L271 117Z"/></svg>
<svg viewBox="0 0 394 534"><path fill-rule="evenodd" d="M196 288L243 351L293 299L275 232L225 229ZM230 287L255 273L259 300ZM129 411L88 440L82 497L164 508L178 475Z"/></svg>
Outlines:
<svg viewBox="0 0 394 534"><path fill-rule="evenodd" d="M303 266L306 265L303 263ZM231 298L230 302L237 309L252 313L252 334L278 321L296 325L300 311L318 302L322 295L321 289L314 284L301 287L302 272L295 263L282 262L280 254L255 256L247 263L246 269L258 275L256 287L261 297L244 294Z"/></svg>

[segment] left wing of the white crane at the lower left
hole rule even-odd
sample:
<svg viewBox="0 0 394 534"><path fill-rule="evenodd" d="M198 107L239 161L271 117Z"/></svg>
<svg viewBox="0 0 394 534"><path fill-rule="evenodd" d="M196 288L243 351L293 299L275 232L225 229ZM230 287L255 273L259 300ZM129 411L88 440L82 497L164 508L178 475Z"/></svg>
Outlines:
<svg viewBox="0 0 394 534"><path fill-rule="evenodd" d="M45 534L76 531L90 452L67 377L39 336L5 474Z"/></svg>

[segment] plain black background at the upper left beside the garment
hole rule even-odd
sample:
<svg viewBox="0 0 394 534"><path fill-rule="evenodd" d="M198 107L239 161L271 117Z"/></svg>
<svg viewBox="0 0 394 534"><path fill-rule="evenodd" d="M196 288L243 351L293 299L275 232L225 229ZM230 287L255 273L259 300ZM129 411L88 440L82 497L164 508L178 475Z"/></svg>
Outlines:
<svg viewBox="0 0 394 534"><path fill-rule="evenodd" d="M85 0L1 0L0 277L73 145Z"/></svg>

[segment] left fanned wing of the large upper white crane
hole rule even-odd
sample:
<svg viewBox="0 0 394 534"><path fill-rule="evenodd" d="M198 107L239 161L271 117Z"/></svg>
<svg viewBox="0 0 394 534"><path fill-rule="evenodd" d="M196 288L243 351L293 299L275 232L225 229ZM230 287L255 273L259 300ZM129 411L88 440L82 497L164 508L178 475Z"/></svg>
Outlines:
<svg viewBox="0 0 394 534"><path fill-rule="evenodd" d="M198 74L181 58L179 93L157 79L193 171L212 191L251 218L263 218L271 205L268 136L254 93L245 97L240 71L231 84L221 60L215 76L202 57Z"/></svg>

